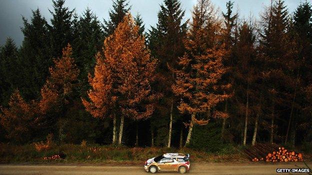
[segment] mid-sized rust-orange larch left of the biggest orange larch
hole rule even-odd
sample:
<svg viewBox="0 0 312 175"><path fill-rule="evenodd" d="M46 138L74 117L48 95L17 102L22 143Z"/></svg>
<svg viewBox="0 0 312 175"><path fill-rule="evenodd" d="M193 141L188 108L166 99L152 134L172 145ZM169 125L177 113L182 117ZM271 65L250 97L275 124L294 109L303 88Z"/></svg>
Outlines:
<svg viewBox="0 0 312 175"><path fill-rule="evenodd" d="M72 49L68 44L62 51L62 57L54 59L54 67L49 68L50 77L41 88L41 99L38 102L39 112L51 117L53 121L64 116L68 105L73 101L74 88L77 86L79 70L71 57ZM47 120L47 119L46 119ZM58 127L58 137L61 126Z"/></svg>

